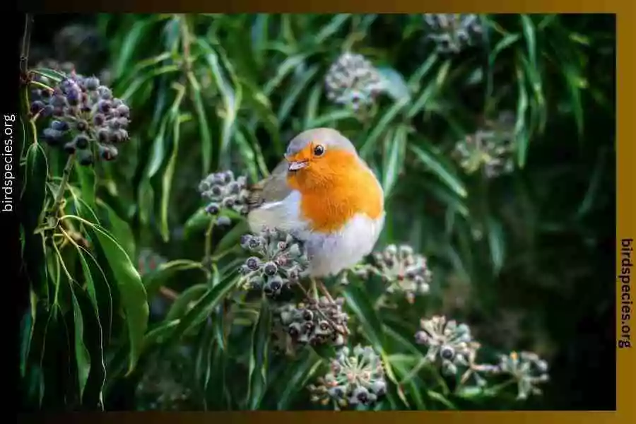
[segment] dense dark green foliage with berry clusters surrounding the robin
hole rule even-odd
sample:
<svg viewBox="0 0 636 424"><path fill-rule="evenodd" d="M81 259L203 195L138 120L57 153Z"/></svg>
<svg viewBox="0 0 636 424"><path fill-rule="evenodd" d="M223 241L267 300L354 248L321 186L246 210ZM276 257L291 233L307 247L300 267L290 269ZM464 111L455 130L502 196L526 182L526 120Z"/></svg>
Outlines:
<svg viewBox="0 0 636 424"><path fill-rule="evenodd" d="M613 408L613 334L587 330L613 314L613 16L101 14L38 50L47 20L21 95L31 408ZM249 245L271 234L243 206L315 126L387 221L302 293L302 247Z"/></svg>

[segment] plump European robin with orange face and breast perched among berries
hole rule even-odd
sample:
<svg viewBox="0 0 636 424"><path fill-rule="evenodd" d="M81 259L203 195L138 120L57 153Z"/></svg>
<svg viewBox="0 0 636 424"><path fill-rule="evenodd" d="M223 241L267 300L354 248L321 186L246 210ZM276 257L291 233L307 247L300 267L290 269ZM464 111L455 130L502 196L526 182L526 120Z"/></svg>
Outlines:
<svg viewBox="0 0 636 424"><path fill-rule="evenodd" d="M329 128L303 131L254 184L247 222L305 243L311 277L335 276L370 254L384 227L384 192L353 143Z"/></svg>

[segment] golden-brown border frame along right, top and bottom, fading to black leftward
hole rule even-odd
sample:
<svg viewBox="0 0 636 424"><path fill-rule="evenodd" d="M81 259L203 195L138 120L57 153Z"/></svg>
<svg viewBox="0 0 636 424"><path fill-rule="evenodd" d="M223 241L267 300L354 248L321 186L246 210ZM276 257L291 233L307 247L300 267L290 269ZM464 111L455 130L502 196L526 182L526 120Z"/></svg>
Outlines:
<svg viewBox="0 0 636 424"><path fill-rule="evenodd" d="M617 15L617 102L618 102L618 141L617 141L617 249L621 238L636 237L635 202L630 194L633 181L630 166L636 162L636 126L633 125L633 102L636 99L636 3L632 0L232 0L223 6L216 6L206 0L57 0L44 1L41 11L76 11L95 13L96 11L121 12L196 12L216 11L237 12L323 12L337 11L367 13L422 13L426 12L481 12L481 13L616 13ZM216 6L216 7L214 7ZM632 162L634 160L635 162ZM617 255L616 275L620 270ZM608 281L609 283L609 281ZM620 302L620 281L615 279L617 303ZM634 324L632 324L633 326ZM620 326L620 307L617 307L616 331ZM332 424L354 423L387 424L391 421L403 423L453 424L483 422L488 424L509 424L510 422L534 423L636 423L636 353L633 348L617 349L617 411L616 412L379 412L365 416L361 413L340 412L302 412L302 413L145 413L141 416L133 413L100 413L97 416L57 416L57 414L27 414L20 416L22 422L42 422L42 420L63 420L69 424L73 420L105 420L118 424L137 424L139 420L148 420L153 424L178 421L180 423L201 423L202 420L217 420L225 423L269 423L292 424L302 420L305 424L321 424L330 420ZM601 388L599 388L602 390ZM632 393L630 395L630 393ZM631 399L631 400L630 400ZM276 415L271 415L276 414Z"/></svg>

